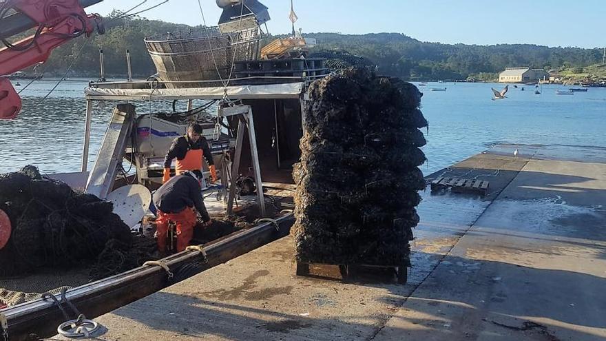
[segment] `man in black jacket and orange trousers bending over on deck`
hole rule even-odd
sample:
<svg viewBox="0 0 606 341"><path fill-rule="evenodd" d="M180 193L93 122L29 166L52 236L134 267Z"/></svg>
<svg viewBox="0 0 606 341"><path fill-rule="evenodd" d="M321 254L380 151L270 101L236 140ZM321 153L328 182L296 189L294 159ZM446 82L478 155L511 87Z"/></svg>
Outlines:
<svg viewBox="0 0 606 341"><path fill-rule="evenodd" d="M185 250L194 237L196 226L196 212L200 213L204 225L211 225L212 221L204 205L200 182L203 175L200 170L187 171L181 175L170 178L156 193L154 205L158 209L156 230L158 231L158 251L166 251L166 237L169 221L177 225L177 252Z"/></svg>

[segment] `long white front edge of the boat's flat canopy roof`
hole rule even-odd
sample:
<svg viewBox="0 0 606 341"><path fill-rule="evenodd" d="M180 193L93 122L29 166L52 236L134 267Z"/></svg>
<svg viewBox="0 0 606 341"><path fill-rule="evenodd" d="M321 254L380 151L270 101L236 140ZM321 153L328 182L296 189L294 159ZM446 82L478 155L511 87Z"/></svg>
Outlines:
<svg viewBox="0 0 606 341"><path fill-rule="evenodd" d="M269 85L238 85L227 87L230 99L298 99L303 83ZM174 99L222 99L224 87L191 87L183 89L107 89L87 87L87 100L95 101L149 101Z"/></svg>

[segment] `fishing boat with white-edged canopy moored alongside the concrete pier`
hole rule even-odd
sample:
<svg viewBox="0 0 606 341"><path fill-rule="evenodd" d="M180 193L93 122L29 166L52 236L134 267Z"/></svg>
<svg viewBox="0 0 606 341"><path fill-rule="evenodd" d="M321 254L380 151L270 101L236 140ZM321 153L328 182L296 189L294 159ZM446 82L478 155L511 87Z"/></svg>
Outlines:
<svg viewBox="0 0 606 341"><path fill-rule="evenodd" d="M199 272L289 233L294 222L291 213L294 208L293 165L301 154L298 143L303 132L302 107L306 101L306 90L311 81L323 78L330 70L326 68L326 59L294 56L295 52L303 56L305 45L285 48L282 51L284 56L280 58L262 59L264 53L269 53L260 46L260 26L269 20L267 8L258 6L253 10L247 9L249 12L244 12L244 9L243 5L224 8L224 15L218 23L221 29L204 27L197 34L193 31L176 32L169 38L160 35L145 39L158 70L154 81L132 80L127 57L127 80L90 83L85 89L81 172L52 174L49 178L62 180L73 189L101 199L109 200L112 194L117 196L116 192L122 194L114 201L114 212L121 205L147 208L151 198L149 190L162 183L163 159L173 139L185 134L189 121L196 121L202 125L203 135L209 141L220 178L220 185L207 194L209 213L214 210L221 215L240 215L249 207L251 212L255 212L250 217L253 218L253 226L233 233L229 231L220 242L205 246L203 251L202 248L198 251L191 249L163 258L162 267L143 265L92 283L62 282L58 285L78 287L64 293L65 300L78 307L86 306L85 302L95 302L88 304L88 307L94 307L94 311L83 309L87 316L101 315L163 289L168 285L164 269L180 269L196 262L202 264L200 259L205 258L203 267L194 271ZM251 11L258 12L251 15ZM305 43L302 37L293 37L297 38ZM285 46L279 42L277 45ZM174 46L178 46L180 52L174 52ZM200 46L206 50L201 50ZM230 57L217 61L209 58L211 53ZM165 65L182 65L182 68L178 72L170 72ZM103 72L101 75L103 79ZM152 110L156 105L151 103L174 101L181 101L182 107L187 105L187 110L175 110L175 107L172 112ZM100 102L123 104L109 109L107 131L94 165L89 168L93 103ZM136 169L134 175L125 174L120 167L123 161ZM208 167L204 167L205 176L209 176ZM175 165L171 165L171 169L174 168ZM238 185L238 174L242 173L254 184L256 191L250 191L251 195L242 194L243 187ZM147 202L140 200L143 196L137 196L135 205L132 205L129 194L132 187L125 188L127 183L138 183L133 186L144 187ZM133 215L128 213L132 209L125 211ZM142 216L139 215L137 220ZM143 220L140 229L145 231ZM200 245L205 243L196 240L195 236L192 241ZM183 273L179 279L194 273ZM134 287L137 289L133 291ZM51 300L32 298L18 308L7 305L0 312L0 335L8 325L15 340L21 340L32 332L53 335L56 326L65 322Z"/></svg>

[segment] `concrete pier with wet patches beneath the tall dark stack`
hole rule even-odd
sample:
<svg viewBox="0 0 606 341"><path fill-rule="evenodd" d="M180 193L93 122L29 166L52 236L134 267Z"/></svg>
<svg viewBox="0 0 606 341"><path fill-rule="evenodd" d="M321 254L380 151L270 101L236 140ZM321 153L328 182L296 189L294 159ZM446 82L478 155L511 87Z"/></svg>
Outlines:
<svg viewBox="0 0 606 341"><path fill-rule="evenodd" d="M423 194L407 285L297 277L286 237L96 318L99 338L606 340L605 156L499 145L429 176L490 187Z"/></svg>

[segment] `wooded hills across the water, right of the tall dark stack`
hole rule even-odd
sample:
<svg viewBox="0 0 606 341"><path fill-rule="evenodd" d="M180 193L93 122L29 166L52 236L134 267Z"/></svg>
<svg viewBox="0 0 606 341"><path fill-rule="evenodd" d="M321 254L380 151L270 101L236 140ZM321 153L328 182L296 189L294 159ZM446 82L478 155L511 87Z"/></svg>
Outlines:
<svg viewBox="0 0 606 341"><path fill-rule="evenodd" d="M379 72L410 80L496 78L515 66L545 70L583 67L602 61L601 49L539 45L448 45L426 43L397 33L307 34L322 49L344 49L375 61Z"/></svg>

